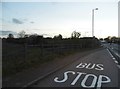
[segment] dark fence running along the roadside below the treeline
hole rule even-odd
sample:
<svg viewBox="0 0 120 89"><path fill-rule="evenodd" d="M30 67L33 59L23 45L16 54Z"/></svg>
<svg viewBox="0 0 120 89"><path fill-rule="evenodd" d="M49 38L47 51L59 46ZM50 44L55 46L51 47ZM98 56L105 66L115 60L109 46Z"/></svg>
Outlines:
<svg viewBox="0 0 120 89"><path fill-rule="evenodd" d="M97 46L99 46L97 39L45 40L34 45L3 42L3 74L16 73L37 63L52 60L67 52Z"/></svg>

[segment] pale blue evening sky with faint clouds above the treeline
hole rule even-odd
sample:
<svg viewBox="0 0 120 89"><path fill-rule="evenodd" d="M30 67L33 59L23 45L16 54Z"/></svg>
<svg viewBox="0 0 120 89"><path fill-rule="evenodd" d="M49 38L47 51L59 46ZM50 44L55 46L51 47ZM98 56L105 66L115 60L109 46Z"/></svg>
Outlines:
<svg viewBox="0 0 120 89"><path fill-rule="evenodd" d="M118 1L3 0L0 3L0 30L13 33L24 30L29 34L51 37L58 34L70 37L76 30L81 36L92 36L92 9L97 7L94 13L95 36L118 36Z"/></svg>

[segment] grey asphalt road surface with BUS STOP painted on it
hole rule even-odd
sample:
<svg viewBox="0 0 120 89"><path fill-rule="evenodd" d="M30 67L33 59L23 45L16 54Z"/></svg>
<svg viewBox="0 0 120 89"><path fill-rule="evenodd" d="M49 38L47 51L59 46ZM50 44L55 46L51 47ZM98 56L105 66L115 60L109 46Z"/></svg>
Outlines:
<svg viewBox="0 0 120 89"><path fill-rule="evenodd" d="M81 87L119 89L119 67L105 48L78 59L30 87Z"/></svg>

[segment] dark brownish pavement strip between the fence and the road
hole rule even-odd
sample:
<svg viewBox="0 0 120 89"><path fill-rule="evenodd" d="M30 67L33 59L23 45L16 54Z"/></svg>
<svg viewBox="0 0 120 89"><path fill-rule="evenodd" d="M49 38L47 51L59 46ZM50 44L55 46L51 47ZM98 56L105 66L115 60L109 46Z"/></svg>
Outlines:
<svg viewBox="0 0 120 89"><path fill-rule="evenodd" d="M37 81L45 78L46 76L64 68L67 65L70 65L72 62L75 62L77 59L89 55L97 50L85 50L82 52L74 53L64 58L57 58L55 60L49 61L47 63L41 64L38 68L31 68L23 72L19 72L16 75L2 79L2 88L26 88L32 84L35 84Z"/></svg>

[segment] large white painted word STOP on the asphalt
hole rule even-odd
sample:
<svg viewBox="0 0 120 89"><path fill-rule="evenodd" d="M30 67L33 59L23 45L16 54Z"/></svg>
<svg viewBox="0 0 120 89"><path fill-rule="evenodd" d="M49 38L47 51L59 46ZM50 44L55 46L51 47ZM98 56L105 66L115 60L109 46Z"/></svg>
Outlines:
<svg viewBox="0 0 120 89"><path fill-rule="evenodd" d="M64 83L64 82L66 82L68 80L68 78L70 78L70 75L68 77L68 73L73 74L73 75L77 74L77 76L75 77L75 79L71 82L71 85L75 85L78 82L78 80L81 78L81 76L84 75L84 78L83 78L82 82L79 83L84 88L95 88L97 86L97 88L100 89L101 86L102 86L102 84L111 82L111 79L108 76L105 76L105 75L99 75L97 77L94 74L87 74L87 73L82 73L82 72L76 72L75 73L74 71L64 72L64 79L59 80L59 78L56 77L54 79L54 81L57 82L57 83ZM89 82L87 80L90 77L93 77L92 83L90 85L86 85ZM105 78L105 80L103 80L103 78Z"/></svg>

